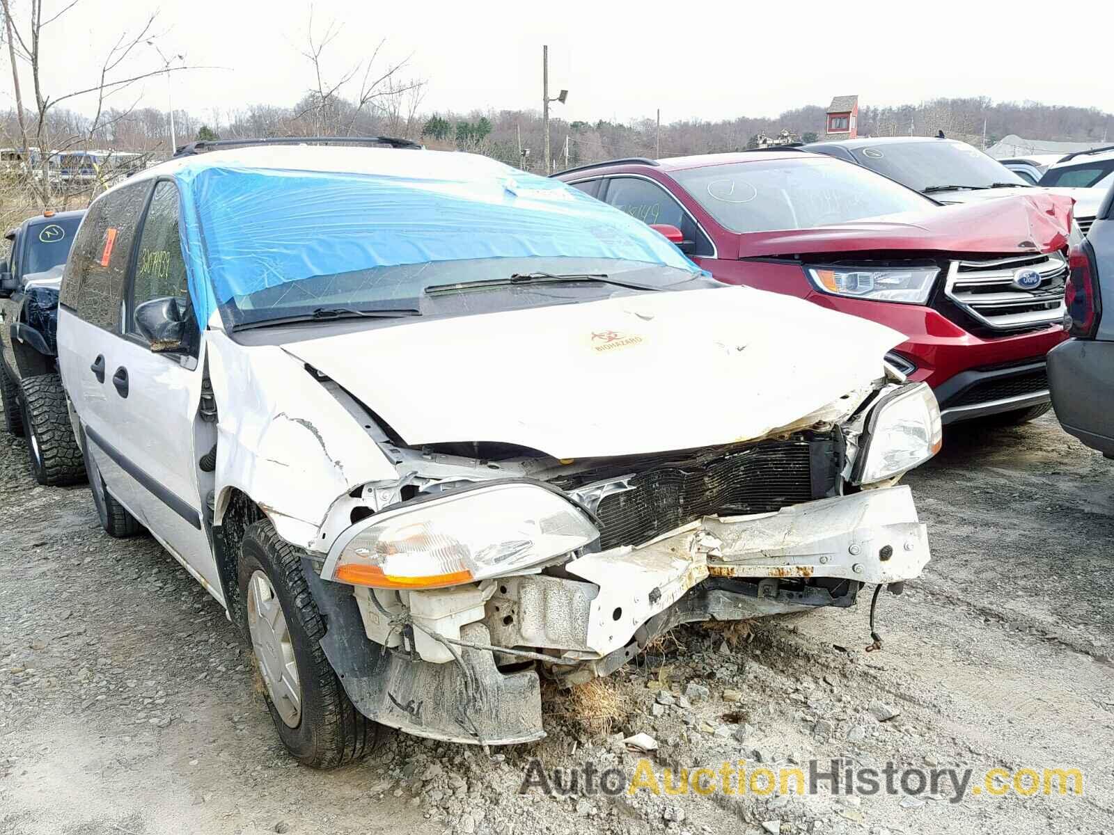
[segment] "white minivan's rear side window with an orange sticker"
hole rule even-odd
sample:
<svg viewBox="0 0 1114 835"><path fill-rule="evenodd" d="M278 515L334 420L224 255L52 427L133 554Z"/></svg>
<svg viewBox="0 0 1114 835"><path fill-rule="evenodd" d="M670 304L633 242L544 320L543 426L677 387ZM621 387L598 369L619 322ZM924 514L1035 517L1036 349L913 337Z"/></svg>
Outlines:
<svg viewBox="0 0 1114 835"><path fill-rule="evenodd" d="M149 183L123 186L94 203L75 244L68 267L74 275L67 276L77 283L72 306L78 316L106 331L119 332L131 245L149 188Z"/></svg>

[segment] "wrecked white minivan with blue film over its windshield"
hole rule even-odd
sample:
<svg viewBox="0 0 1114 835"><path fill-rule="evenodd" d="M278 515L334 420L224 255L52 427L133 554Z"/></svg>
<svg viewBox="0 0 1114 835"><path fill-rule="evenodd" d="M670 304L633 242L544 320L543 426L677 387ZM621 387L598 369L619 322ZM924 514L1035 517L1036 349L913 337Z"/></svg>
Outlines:
<svg viewBox="0 0 1114 835"><path fill-rule="evenodd" d="M404 144L397 144L404 145ZM723 257L721 254L720 257ZM58 346L100 521L251 642L293 756L544 736L539 680L929 559L896 332L467 154L245 147L97 198Z"/></svg>

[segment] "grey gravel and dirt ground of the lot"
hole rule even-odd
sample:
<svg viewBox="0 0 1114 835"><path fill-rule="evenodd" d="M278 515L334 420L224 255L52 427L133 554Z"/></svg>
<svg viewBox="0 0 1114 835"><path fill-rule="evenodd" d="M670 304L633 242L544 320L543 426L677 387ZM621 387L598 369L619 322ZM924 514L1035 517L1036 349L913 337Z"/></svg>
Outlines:
<svg viewBox="0 0 1114 835"><path fill-rule="evenodd" d="M952 432L908 482L934 560L880 599L880 652L864 651L869 599L678 629L579 708L547 689L540 743L486 753L384 731L364 763L314 773L285 756L217 605L152 539L102 533L87 488L30 487L4 435L0 832L1114 833L1114 462L1048 415ZM657 750L623 745L636 733ZM658 775L971 767L973 785L994 767L1076 767L1084 793L519 793L534 758L629 775L643 756Z"/></svg>

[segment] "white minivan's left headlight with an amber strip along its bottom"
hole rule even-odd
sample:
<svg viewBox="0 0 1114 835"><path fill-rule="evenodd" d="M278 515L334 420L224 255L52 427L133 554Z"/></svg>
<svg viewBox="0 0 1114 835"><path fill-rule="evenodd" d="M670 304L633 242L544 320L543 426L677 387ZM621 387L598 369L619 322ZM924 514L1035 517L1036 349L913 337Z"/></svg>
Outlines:
<svg viewBox="0 0 1114 835"><path fill-rule="evenodd" d="M599 536L555 491L511 482L469 488L369 517L333 543L322 577L380 589L437 589L507 574Z"/></svg>

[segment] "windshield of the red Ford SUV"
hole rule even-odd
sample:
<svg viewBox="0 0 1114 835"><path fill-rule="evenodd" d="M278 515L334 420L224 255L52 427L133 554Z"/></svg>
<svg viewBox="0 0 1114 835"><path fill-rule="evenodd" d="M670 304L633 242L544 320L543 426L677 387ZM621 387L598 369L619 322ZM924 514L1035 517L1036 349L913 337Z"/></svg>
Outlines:
<svg viewBox="0 0 1114 835"><path fill-rule="evenodd" d="M936 206L897 183L821 156L711 165L672 176L732 232L810 229Z"/></svg>

